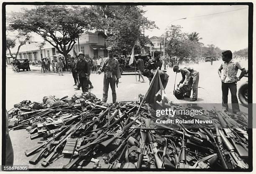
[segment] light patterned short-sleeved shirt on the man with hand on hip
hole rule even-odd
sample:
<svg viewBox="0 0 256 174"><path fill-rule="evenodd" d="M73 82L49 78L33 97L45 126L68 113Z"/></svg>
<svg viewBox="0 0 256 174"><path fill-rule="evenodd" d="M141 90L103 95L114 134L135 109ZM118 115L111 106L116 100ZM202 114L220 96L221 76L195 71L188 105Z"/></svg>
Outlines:
<svg viewBox="0 0 256 174"><path fill-rule="evenodd" d="M238 69L244 69L242 64L239 61L236 61L234 59L231 59L230 62L223 62L220 65L220 70L223 69L223 72L221 72L221 81L224 83L233 83L236 82L236 74L238 72Z"/></svg>

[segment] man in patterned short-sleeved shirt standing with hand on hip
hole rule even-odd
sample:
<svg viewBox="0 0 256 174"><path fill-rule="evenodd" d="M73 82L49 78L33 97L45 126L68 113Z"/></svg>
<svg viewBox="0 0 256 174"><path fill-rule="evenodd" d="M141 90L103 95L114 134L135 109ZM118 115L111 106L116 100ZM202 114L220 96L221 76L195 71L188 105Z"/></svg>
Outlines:
<svg viewBox="0 0 256 174"><path fill-rule="evenodd" d="M222 89L222 107L223 111L228 110L228 89L231 93L231 102L233 113L240 112L238 100L236 96L236 82L239 81L244 74L246 74L246 69L241 65L239 61L232 59L232 52L230 50L222 52L222 60L224 61L220 68L218 69L218 74L221 80ZM239 77L236 76L238 69L242 72ZM223 70L223 72L221 72Z"/></svg>

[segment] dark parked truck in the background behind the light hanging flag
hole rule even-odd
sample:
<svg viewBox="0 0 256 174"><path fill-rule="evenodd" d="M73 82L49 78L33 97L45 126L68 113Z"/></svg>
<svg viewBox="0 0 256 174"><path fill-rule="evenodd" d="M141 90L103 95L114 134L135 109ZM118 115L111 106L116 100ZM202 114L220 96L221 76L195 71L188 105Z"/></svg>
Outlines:
<svg viewBox="0 0 256 174"><path fill-rule="evenodd" d="M134 55L136 60L138 60L138 56L139 54ZM135 62L133 61L133 64L129 65L130 59L131 59L131 56L128 56L126 60L125 59L118 60L120 74L123 74L123 72L135 72ZM149 68L147 55L141 55L141 59L144 61L145 69ZM137 64L136 64L136 70L138 70Z"/></svg>

